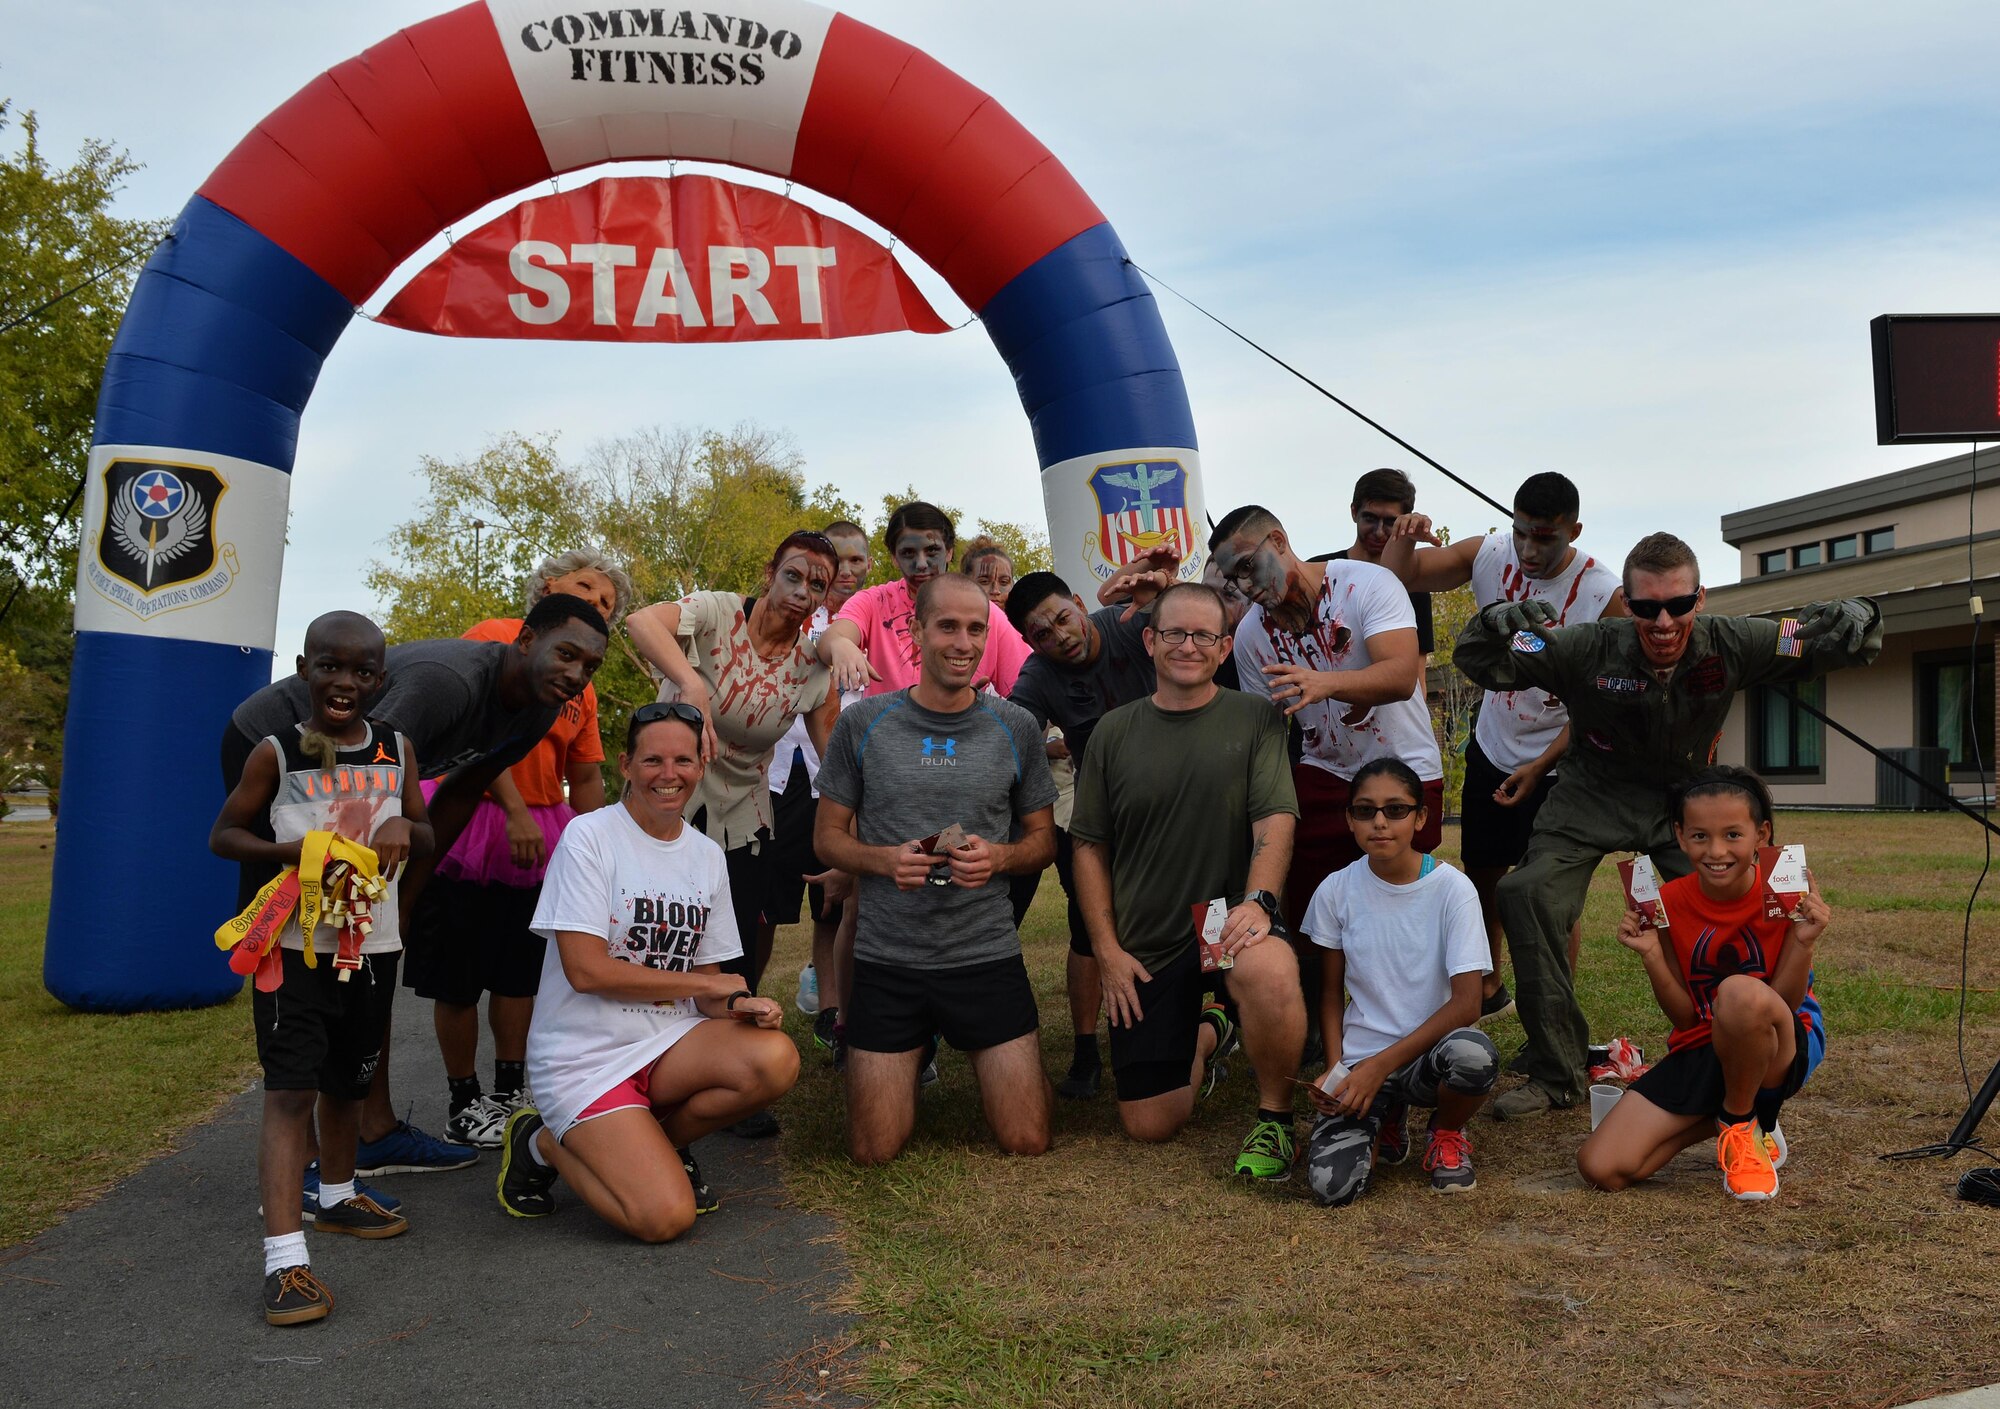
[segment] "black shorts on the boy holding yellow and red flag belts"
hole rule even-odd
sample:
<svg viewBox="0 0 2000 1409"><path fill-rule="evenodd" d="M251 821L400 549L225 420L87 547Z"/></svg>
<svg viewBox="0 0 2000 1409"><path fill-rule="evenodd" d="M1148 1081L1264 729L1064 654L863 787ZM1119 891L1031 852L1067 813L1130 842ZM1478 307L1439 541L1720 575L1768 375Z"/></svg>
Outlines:
<svg viewBox="0 0 2000 1409"><path fill-rule="evenodd" d="M320 1091L336 1101L368 1095L388 1037L396 1001L396 961L402 955L362 955L362 967L340 983L330 945L308 969L296 949L284 951L284 983L250 997L256 1059L266 1091Z"/></svg>

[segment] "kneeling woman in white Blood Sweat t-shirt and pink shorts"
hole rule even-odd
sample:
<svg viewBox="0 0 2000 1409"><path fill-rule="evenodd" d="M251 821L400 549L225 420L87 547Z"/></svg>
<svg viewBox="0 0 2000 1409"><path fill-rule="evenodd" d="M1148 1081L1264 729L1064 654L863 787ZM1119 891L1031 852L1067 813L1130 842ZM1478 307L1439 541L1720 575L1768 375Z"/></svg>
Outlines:
<svg viewBox="0 0 2000 1409"><path fill-rule="evenodd" d="M552 939L528 1029L528 1085L500 1155L500 1207L554 1211L560 1175L612 1227L664 1243L716 1199L688 1147L798 1081L776 999L722 965L742 957L722 849L682 813L702 783L702 713L632 713L618 807L578 817L542 879L532 929Z"/></svg>

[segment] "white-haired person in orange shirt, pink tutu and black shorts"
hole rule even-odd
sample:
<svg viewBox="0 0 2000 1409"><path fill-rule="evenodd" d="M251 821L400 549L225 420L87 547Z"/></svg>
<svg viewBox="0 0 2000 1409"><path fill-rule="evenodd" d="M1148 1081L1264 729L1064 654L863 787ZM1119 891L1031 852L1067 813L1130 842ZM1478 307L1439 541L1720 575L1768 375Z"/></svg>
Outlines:
<svg viewBox="0 0 2000 1409"><path fill-rule="evenodd" d="M524 612L550 592L578 596L616 626L632 600L632 578L596 548L544 558L528 574ZM514 640L520 616L482 620L468 640ZM542 873L562 829L604 807L604 741L598 694L584 692L534 751L500 775L418 901L404 983L436 1003L434 1025L450 1087L446 1137L498 1149L506 1119L528 1103L528 1021L548 947L528 923ZM480 1091L480 995L494 1035L494 1089Z"/></svg>

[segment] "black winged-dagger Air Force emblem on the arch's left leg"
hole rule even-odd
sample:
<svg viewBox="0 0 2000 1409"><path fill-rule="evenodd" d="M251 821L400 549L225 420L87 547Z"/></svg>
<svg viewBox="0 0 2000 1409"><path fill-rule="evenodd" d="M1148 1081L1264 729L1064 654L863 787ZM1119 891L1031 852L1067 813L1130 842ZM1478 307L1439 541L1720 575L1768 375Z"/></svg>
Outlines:
<svg viewBox="0 0 2000 1409"><path fill-rule="evenodd" d="M216 542L216 510L228 484L206 464L112 460L104 466L104 514L90 586L146 620L230 590L236 546Z"/></svg>

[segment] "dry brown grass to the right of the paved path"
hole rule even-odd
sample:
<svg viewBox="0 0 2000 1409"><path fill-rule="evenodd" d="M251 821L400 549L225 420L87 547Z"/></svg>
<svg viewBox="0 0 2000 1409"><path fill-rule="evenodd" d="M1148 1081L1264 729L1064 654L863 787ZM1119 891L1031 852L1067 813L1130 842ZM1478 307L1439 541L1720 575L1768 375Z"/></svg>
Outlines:
<svg viewBox="0 0 2000 1409"><path fill-rule="evenodd" d="M1066 1105L1058 1149L984 1141L946 1057L916 1143L886 1171L838 1153L824 1063L788 1101L794 1189L842 1219L864 1313L848 1385L894 1405L1374 1403L1890 1405L2000 1379L2000 1213L1950 1165L1880 1153L1940 1139L1964 1107L1954 1055L1960 917L1980 865L1956 819L1786 817L1838 909L1820 991L1832 1053L1788 1107L1770 1205L1724 1199L1700 1151L1626 1195L1584 1191L1582 1111L1480 1121L1480 1187L1428 1193L1416 1161L1350 1209L1222 1179L1250 1119L1236 1079L1166 1147L1116 1131L1110 1097ZM1664 1051L1644 981L1594 893L1586 1007ZM1060 897L1030 921L1044 1049L1060 1075ZM786 955L800 953L790 937ZM1972 981L2000 983L1990 905ZM1974 995L1974 1081L2000 1057ZM1502 1049L1518 1027L1496 1029ZM1990 1139L2000 1143L2000 1115Z"/></svg>

